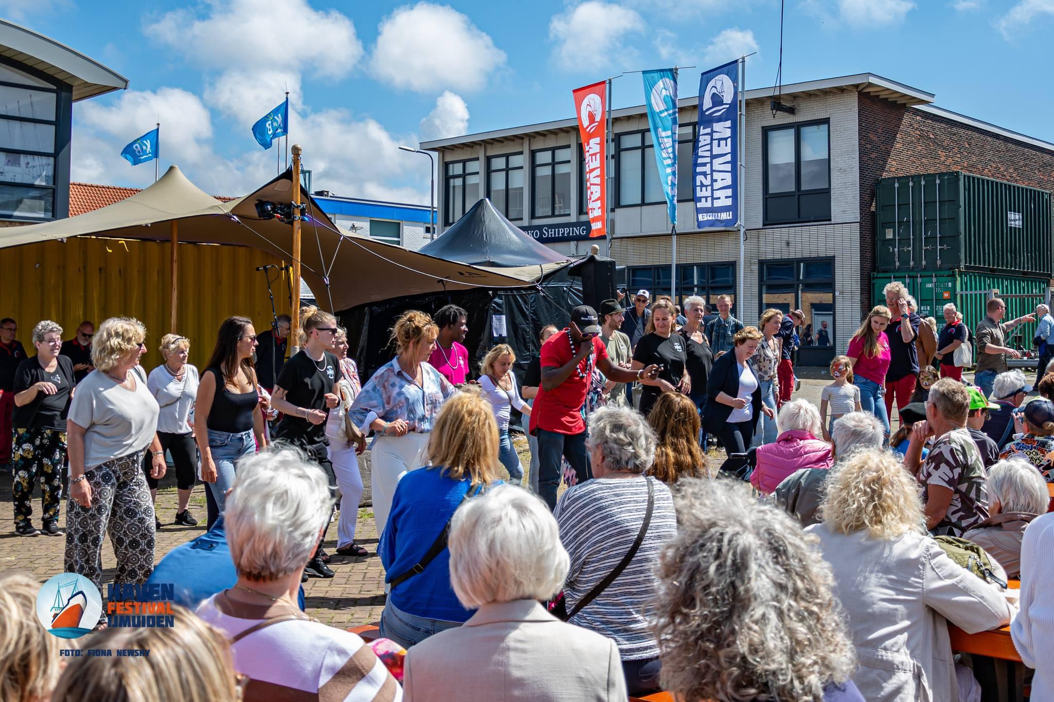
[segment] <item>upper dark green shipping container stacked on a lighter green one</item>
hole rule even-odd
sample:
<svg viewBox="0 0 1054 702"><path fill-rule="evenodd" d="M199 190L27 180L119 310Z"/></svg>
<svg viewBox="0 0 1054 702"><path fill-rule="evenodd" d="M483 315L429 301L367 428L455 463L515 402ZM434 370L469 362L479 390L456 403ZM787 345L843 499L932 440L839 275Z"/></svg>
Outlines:
<svg viewBox="0 0 1054 702"><path fill-rule="evenodd" d="M883 178L876 269L1054 274L1051 194L957 171Z"/></svg>

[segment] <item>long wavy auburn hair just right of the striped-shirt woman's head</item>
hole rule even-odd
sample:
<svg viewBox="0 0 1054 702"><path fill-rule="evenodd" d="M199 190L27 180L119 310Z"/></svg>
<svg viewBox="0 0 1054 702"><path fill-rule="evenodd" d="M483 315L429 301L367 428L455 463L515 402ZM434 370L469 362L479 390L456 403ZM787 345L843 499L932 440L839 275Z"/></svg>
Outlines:
<svg viewBox="0 0 1054 702"><path fill-rule="evenodd" d="M648 414L659 437L656 459L647 475L672 485L681 478L710 477L699 446L699 410L687 395L663 393Z"/></svg>

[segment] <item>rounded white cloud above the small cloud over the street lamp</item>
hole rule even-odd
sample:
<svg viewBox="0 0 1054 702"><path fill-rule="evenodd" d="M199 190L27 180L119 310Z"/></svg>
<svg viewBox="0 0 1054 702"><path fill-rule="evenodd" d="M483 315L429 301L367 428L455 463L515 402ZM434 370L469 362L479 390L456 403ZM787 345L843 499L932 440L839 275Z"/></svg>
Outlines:
<svg viewBox="0 0 1054 702"><path fill-rule="evenodd" d="M378 27L370 65L395 87L434 93L479 91L505 65L505 52L452 7L418 2L398 7Z"/></svg>

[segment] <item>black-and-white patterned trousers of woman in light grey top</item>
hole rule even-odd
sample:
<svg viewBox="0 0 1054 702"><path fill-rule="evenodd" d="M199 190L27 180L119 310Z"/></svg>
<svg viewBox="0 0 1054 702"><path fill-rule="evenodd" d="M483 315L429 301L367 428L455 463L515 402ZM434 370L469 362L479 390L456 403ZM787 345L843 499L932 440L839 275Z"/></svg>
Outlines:
<svg viewBox="0 0 1054 702"><path fill-rule="evenodd" d="M114 582L141 584L154 570L154 504L139 450L86 470L92 506L66 503L66 573L84 576L102 589L102 537L117 557ZM103 618L105 607L103 607Z"/></svg>

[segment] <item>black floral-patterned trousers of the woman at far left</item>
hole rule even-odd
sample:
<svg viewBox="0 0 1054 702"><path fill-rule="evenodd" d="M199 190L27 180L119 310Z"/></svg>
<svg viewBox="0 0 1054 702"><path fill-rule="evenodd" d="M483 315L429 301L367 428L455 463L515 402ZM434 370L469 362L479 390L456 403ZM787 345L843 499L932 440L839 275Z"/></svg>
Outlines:
<svg viewBox="0 0 1054 702"><path fill-rule="evenodd" d="M58 429L14 429L12 458L15 472L15 526L27 524L33 516L33 488L40 476L40 508L47 524L59 518L62 502L62 465L65 463L65 432Z"/></svg>

